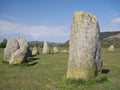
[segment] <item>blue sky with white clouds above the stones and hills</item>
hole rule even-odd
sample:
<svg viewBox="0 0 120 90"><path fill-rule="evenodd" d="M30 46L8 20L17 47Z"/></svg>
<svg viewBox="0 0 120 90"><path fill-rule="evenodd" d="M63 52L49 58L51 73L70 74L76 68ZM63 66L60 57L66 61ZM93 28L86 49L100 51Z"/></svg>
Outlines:
<svg viewBox="0 0 120 90"><path fill-rule="evenodd" d="M100 31L120 31L120 0L0 0L0 39L65 42L75 11L95 15Z"/></svg>

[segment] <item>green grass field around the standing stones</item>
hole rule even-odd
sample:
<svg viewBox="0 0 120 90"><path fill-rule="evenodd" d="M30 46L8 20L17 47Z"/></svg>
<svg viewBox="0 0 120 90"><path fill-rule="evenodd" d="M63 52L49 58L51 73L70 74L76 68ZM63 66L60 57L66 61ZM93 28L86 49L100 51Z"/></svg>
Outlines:
<svg viewBox="0 0 120 90"><path fill-rule="evenodd" d="M107 80L66 79L68 54L38 55L15 66L2 63L2 59L3 49L0 49L0 90L120 90L120 48L114 52L102 49Z"/></svg>

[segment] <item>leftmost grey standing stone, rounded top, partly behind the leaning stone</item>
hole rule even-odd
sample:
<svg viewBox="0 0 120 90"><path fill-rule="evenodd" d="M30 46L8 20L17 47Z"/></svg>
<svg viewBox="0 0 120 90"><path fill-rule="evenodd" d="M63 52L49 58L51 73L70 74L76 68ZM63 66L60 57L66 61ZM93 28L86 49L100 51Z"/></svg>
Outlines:
<svg viewBox="0 0 120 90"><path fill-rule="evenodd" d="M4 49L4 62L9 62L11 55L19 49L19 43L17 39L11 39L7 42L6 48Z"/></svg>

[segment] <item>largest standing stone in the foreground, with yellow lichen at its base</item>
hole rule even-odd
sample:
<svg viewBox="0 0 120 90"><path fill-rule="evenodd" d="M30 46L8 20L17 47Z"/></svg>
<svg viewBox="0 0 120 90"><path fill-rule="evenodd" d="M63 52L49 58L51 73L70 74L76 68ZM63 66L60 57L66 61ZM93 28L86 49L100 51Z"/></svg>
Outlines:
<svg viewBox="0 0 120 90"><path fill-rule="evenodd" d="M89 79L101 72L101 44L97 18L75 12L71 26L67 78Z"/></svg>

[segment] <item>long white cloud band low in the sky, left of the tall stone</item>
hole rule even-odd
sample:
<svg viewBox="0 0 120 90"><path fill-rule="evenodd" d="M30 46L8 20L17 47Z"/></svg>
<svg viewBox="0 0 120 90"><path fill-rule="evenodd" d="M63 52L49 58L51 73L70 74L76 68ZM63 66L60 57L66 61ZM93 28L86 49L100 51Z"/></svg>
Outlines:
<svg viewBox="0 0 120 90"><path fill-rule="evenodd" d="M49 37L67 37L69 35L67 26L30 26L16 24L5 20L0 20L0 34L20 33L33 37L35 40Z"/></svg>

